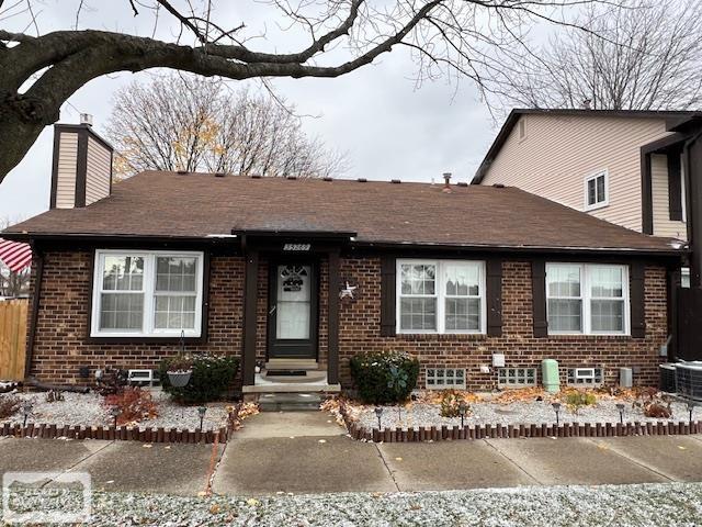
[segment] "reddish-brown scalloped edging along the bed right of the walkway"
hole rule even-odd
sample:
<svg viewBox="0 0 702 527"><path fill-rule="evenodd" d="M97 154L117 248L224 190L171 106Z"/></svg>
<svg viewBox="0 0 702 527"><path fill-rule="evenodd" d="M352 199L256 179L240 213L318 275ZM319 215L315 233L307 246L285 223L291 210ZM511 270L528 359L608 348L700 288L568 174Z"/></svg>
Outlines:
<svg viewBox="0 0 702 527"><path fill-rule="evenodd" d="M702 434L702 422L673 423L658 421L656 423L555 423L548 425L466 425L461 426L422 426L419 428L366 428L349 417L340 406L339 412L349 430L356 440L372 442L421 442L446 441L460 439L508 439L528 437L623 437L623 436L688 436Z"/></svg>

